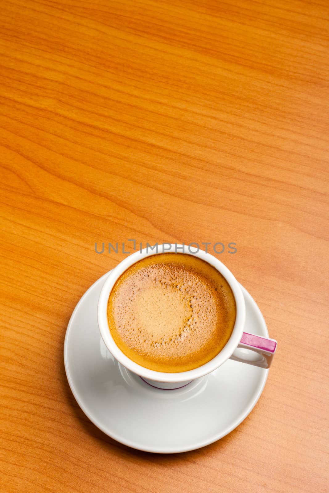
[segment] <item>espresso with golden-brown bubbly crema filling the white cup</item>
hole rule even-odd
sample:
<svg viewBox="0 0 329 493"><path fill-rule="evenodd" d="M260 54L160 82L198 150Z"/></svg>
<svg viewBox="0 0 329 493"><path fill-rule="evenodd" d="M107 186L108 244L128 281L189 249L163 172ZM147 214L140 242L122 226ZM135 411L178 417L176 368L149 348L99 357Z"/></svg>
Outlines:
<svg viewBox="0 0 329 493"><path fill-rule="evenodd" d="M160 372L198 368L227 343L235 323L233 292L193 255L161 253L129 267L108 302L111 335L136 363Z"/></svg>

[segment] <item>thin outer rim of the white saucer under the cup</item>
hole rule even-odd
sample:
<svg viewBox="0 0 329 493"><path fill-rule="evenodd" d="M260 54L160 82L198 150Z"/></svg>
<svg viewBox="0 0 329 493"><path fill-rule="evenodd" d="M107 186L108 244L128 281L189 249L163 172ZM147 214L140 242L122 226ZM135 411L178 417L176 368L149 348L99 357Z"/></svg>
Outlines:
<svg viewBox="0 0 329 493"><path fill-rule="evenodd" d="M69 347L69 340L70 340L71 329L72 329L74 317L75 317L77 311L79 310L80 306L84 302L84 299L87 297L89 291L92 288L94 288L96 284L100 284L102 281L105 282L105 280L106 280L106 278L107 278L108 275L109 275L109 272L107 272L106 274L104 274L103 276L101 276L99 279L97 279L85 291L85 293L81 296L81 298L77 302L77 304L76 304L76 306L75 306L75 308L73 310L73 313L72 313L72 315L70 317L70 320L69 320L69 323L68 323L68 327L67 327L67 330L66 330L66 334L65 334L65 340L64 340L64 366L65 366L65 373L66 373L66 376L67 376L67 379L68 379L69 386L70 386L71 391L73 393L73 396L74 396L77 404L81 408L81 410L84 412L84 414L87 416L87 418L95 426L97 426L97 428L99 428L101 431L103 431L103 433L105 433L106 435L108 435L113 440L116 440L117 442L122 443L123 445L125 445L127 447L131 447L131 448L134 448L136 450L141 450L143 452L150 452L150 453L153 453L153 454L179 454L179 453L183 453L183 452L189 452L189 451L192 451L192 450L197 450L197 449L200 449L202 447L206 447L207 445L210 445L210 444L212 444L214 442L217 442L218 440L220 440L224 436L228 435L231 431L233 431L237 426L239 426L239 424L241 424L247 418L247 416L251 413L251 411L256 406L256 403L259 400L259 397L260 397L260 395L261 395L261 393L262 393L262 391L263 391L263 389L265 387L267 376L268 376L268 370L261 369L262 370L262 376L261 376L261 379L260 379L260 382L259 382L259 387L258 387L258 391L257 391L256 395L251 400L250 404L244 409L244 412L242 413L242 415L238 419L236 419L231 424L231 426L228 426L227 428L225 428L224 430L222 430L219 434L215 435L214 437L212 437L210 439L207 439L207 440L199 441L198 443L196 443L196 444L194 444L194 445L192 445L190 447L187 447L187 448L176 447L176 448L168 448L168 449L164 449L164 448L162 448L162 449L155 449L155 448L152 448L152 447L143 447L143 444L141 444L141 443L135 443L135 442L133 442L131 440L127 440L124 437L117 435L112 430L109 430L108 428L104 427L97 419L95 419L93 417L93 415L91 413L89 413L89 411L87 410L87 408L83 404L82 399L80 399L79 393L75 390L75 387L74 387L74 384L73 384L73 380L71 378L70 368L69 368L68 347ZM264 317L263 317L263 315L262 315L259 307L256 304L256 301L251 296L251 294L247 291L247 289L244 286L242 286L241 283L239 283L239 284L240 284L240 287L242 289L242 292L243 292L244 297L245 298L249 298L249 301L251 302L251 305L253 306L253 308L254 309L256 308L256 314L257 314L257 317L259 318L259 322L261 323L262 328L265 331L265 336L268 337L268 331L267 331L267 327L266 327L266 322L265 322L265 319L264 319ZM97 309L97 307L96 307L96 309Z"/></svg>

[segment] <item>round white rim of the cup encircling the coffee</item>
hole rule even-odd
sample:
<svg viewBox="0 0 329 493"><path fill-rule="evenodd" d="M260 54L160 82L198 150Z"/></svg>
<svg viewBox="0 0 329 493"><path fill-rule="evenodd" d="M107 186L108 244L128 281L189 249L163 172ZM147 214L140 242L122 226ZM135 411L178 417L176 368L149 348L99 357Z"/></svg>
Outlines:
<svg viewBox="0 0 329 493"><path fill-rule="evenodd" d="M170 249L165 248L165 246L168 247L169 245L170 245ZM117 361L119 361L119 363L125 366L128 370L132 371L133 373L136 373L137 375L143 378L154 380L155 382L180 383L180 382L185 382L187 380L194 380L196 378L203 377L208 373L211 373L212 371L219 368L219 366L222 365L232 355L234 350L237 348L243 334L245 314L246 314L245 300L240 285L235 279L235 277L233 276L233 274L222 262L220 262L218 258L214 257L210 253L208 252L206 253L204 250L198 250L196 252L178 251L182 247L183 245L166 243L166 244L158 245L158 249L155 253L154 251L150 250L150 248L148 247L132 253L131 255L123 259L116 267L114 267L113 270L109 271L109 275L103 284L98 300L97 321L98 321L101 337L103 339L105 346L108 348L112 356ZM164 248L165 251L163 251ZM177 373L158 372L155 370L150 370L144 366L141 366L138 363L135 363L135 361L128 358L128 356L126 356L118 348L110 333L108 317L107 317L107 308L108 308L108 300L109 300L110 292L115 282L121 276L121 274L123 274L131 265L135 264L142 258L151 255L157 255L160 253L183 253L184 255L194 255L201 258L202 260L205 260L210 265L215 267L219 271L219 273L222 274L222 276L226 279L226 281L228 282L229 286L232 289L235 298L235 304L236 304L235 323L234 323L232 334L229 340L227 341L227 343L225 344L225 346L223 347L223 349L213 359L203 364L202 366L184 372L177 372Z"/></svg>

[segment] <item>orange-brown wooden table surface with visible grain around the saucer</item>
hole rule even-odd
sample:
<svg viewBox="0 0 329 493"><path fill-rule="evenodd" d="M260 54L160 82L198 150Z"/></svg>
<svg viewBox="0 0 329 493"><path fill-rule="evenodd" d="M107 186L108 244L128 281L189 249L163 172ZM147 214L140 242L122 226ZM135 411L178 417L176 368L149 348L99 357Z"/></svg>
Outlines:
<svg viewBox="0 0 329 493"><path fill-rule="evenodd" d="M1 3L1 493L329 491L328 19L327 0ZM120 445L67 383L73 308L125 257L95 243L128 239L223 243L279 341L255 409L203 449Z"/></svg>

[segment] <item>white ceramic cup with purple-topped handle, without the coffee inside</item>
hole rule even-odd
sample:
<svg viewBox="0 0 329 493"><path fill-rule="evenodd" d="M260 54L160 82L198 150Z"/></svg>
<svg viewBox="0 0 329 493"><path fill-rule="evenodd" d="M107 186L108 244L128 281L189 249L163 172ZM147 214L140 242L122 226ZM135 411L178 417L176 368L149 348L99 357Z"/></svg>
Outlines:
<svg viewBox="0 0 329 493"><path fill-rule="evenodd" d="M274 339L265 337L259 337L254 334L249 334L243 331L246 317L245 300L240 288L240 284L237 282L233 274L222 264L216 257L210 253L206 253L203 250L198 250L195 253L182 251L182 245L170 245L168 243L158 245L157 251L150 248L144 248L142 251L136 251L135 253L126 257L120 262L112 271L110 271L104 285L102 287L97 307L97 320L98 326L101 332L102 339L113 355L113 357L119 361L123 366L133 373L139 375L147 384L163 389L180 388L189 384L193 380L203 377L208 373L219 368L228 358L235 361L241 361L261 368L269 368L274 353L276 351L277 342ZM144 366L141 366L130 358L128 358L115 344L109 329L108 323L108 300L112 287L117 279L125 272L128 267L135 264L142 258L149 255L156 255L159 253L184 253L185 255L194 255L196 257L205 260L210 265L214 266L220 274L229 283L235 298L236 303L236 319L231 337L227 341L223 349L208 363L205 363L198 368L178 373L164 373L154 370L149 370ZM248 351L247 351L248 350Z"/></svg>

